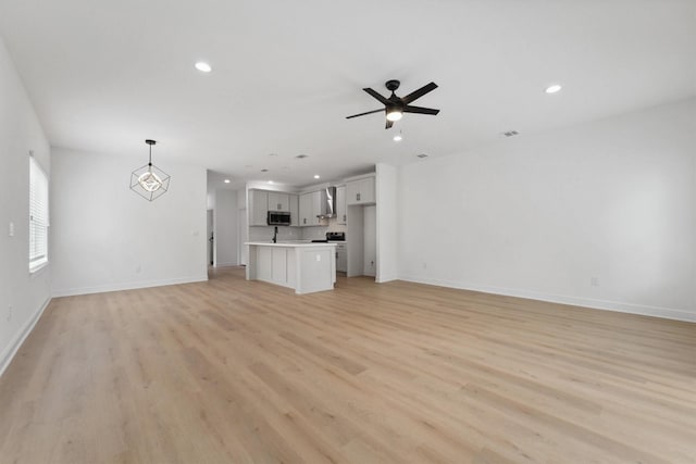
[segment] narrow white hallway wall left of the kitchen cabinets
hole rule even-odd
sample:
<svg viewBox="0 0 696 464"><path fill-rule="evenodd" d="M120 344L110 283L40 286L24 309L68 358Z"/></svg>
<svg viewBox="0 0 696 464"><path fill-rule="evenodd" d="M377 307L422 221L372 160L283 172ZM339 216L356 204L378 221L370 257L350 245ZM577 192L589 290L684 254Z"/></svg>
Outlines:
<svg viewBox="0 0 696 464"><path fill-rule="evenodd" d="M235 190L215 190L215 266L239 264L238 249L238 205Z"/></svg>

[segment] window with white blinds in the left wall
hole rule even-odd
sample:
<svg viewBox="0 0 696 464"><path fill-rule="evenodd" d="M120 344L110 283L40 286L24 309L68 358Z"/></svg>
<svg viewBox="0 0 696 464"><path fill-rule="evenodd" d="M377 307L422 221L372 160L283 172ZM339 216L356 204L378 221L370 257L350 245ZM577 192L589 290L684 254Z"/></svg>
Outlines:
<svg viewBox="0 0 696 464"><path fill-rule="evenodd" d="M29 272L48 263L48 177L29 156Z"/></svg>

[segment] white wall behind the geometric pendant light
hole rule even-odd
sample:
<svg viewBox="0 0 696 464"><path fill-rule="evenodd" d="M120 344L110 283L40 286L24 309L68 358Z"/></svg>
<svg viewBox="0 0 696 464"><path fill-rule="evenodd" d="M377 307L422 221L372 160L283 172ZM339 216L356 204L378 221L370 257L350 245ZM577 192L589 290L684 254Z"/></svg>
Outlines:
<svg viewBox="0 0 696 464"><path fill-rule="evenodd" d="M206 263L206 170L154 151L172 176L149 202L128 189L141 156L53 149L53 294L200 281Z"/></svg>

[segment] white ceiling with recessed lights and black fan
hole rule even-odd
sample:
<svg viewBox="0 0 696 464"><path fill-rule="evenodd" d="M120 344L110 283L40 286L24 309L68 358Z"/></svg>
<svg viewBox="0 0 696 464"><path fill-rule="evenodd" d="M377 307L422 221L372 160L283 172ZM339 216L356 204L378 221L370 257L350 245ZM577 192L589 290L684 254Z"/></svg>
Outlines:
<svg viewBox="0 0 696 464"><path fill-rule="evenodd" d="M237 181L314 184L696 95L693 0L0 0L0 33L51 145L145 156L153 138L164 170ZM437 83L414 104L440 114L345 118L390 78Z"/></svg>

